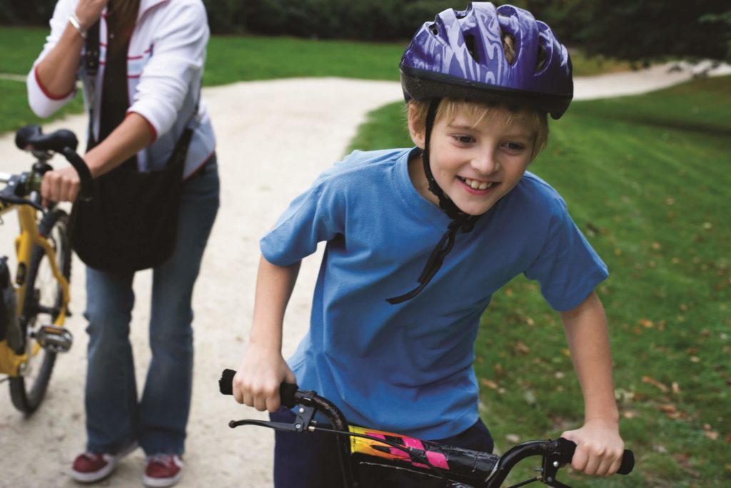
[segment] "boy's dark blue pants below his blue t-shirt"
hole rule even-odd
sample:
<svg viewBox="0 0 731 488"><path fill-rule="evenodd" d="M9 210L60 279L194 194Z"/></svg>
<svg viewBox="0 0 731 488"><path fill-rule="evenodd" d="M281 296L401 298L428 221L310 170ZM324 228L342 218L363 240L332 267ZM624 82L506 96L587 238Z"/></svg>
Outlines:
<svg viewBox="0 0 731 488"><path fill-rule="evenodd" d="M295 414L286 408L271 413L272 421L292 424ZM277 431L274 435L274 487L275 488L342 488L336 436L323 432L290 433ZM455 446L475 451L493 451L493 439L482 421L446 439L434 440L445 446ZM369 473L369 477L382 476L368 487L425 488L425 482L415 481L398 470ZM387 478L385 478L387 476Z"/></svg>

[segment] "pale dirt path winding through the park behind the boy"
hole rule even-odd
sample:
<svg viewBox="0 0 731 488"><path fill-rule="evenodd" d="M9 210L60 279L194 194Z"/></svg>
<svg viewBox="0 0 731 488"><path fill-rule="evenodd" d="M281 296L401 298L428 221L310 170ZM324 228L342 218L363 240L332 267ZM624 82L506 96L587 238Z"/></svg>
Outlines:
<svg viewBox="0 0 731 488"><path fill-rule="evenodd" d="M657 89L689 78L665 70L577 79L577 99ZM258 239L289 200L342 156L357 125L373 108L401 99L398 83L337 78L236 83L204 90L218 137L221 211L206 250L194 296L194 399L186 443L186 471L178 487L271 486L273 435L255 427L231 430L232 418L262 417L218 394L224 367L237 367L246 345L259 258ZM48 124L83 134L83 116ZM29 159L0 137L2 171L27 168ZM1 254L10 253L15 219L0 227ZM319 260L303 263L285 324L285 354L306 330L311 285ZM143 383L149 361L147 320L150 273L138 274L132 344L137 379ZM34 416L12 408L7 386L0 386L0 488L77 487L69 477L72 459L84 447L83 383L86 334L81 312L86 301L83 265L75 260L69 329L75 344L61 356L48 395ZM140 486L143 453L121 462L101 487Z"/></svg>

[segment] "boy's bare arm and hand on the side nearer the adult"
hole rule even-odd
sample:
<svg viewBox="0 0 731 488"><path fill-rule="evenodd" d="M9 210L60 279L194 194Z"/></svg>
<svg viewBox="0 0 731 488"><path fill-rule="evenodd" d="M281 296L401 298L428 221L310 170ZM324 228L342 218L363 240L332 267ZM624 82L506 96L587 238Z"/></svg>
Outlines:
<svg viewBox="0 0 731 488"><path fill-rule="evenodd" d="M249 347L233 380L237 402L257 410L279 409L279 384L295 383L295 375L281 355L284 311L295 287L300 263L275 266L262 256L254 299Z"/></svg>

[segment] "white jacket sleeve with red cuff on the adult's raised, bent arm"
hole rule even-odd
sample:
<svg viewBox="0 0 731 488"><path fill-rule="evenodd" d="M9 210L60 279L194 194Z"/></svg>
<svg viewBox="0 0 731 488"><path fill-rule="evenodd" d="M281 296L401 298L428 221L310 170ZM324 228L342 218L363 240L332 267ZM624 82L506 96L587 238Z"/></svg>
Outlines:
<svg viewBox="0 0 731 488"><path fill-rule="evenodd" d="M62 97L54 97L39 83L36 75L36 67L38 63L48 55L50 50L56 47L56 43L58 43L58 40L61 38L61 34L64 33L67 23L69 23L69 16L75 10L76 4L77 0L58 1L56 8L53 10L53 16L50 19L50 34L46 37L43 50L38 56L38 59L34 61L33 67L26 78L26 86L28 87L28 103L31 106L33 113L39 117L50 116L52 113L56 112L56 110L66 105L66 103L76 94L76 89L73 89Z"/></svg>

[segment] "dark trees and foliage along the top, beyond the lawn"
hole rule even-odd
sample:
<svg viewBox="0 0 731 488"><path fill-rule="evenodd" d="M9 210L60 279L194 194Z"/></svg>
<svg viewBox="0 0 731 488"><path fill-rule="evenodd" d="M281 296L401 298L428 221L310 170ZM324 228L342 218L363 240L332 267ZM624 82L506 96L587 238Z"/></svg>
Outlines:
<svg viewBox="0 0 731 488"><path fill-rule="evenodd" d="M399 40L436 12L467 0L203 0L214 34ZM4 0L0 24L48 23L55 0ZM513 0L545 20L567 45L630 61L659 57L731 60L727 0Z"/></svg>

